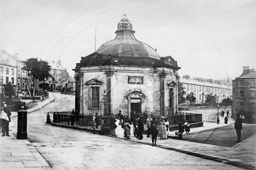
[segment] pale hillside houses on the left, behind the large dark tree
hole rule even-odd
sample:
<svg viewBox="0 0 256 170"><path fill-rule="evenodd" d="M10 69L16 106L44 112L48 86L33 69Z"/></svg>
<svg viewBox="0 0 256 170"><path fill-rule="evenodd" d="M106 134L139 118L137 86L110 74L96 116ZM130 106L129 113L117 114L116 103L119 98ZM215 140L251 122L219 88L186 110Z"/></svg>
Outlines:
<svg viewBox="0 0 256 170"><path fill-rule="evenodd" d="M58 63L52 61L49 63L51 66L51 78L47 81L50 84L51 90L61 91L63 88L73 89L75 81L69 76L67 69L62 66L62 62ZM30 83L28 79L28 72L23 70L22 59L19 54L8 54L5 50L0 50L0 94L5 93L6 84L10 83L13 86L15 93L28 91ZM31 86L38 89L40 82L31 82Z"/></svg>

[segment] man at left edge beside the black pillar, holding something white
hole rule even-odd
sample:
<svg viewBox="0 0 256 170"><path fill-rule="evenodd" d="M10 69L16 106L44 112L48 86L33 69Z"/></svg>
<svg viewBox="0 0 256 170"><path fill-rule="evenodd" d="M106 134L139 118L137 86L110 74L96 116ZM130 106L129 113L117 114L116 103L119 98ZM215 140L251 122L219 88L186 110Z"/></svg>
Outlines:
<svg viewBox="0 0 256 170"><path fill-rule="evenodd" d="M12 115L12 113L9 111L9 109L7 109L7 105L4 104L4 108L3 111L1 111L1 126L2 126L2 132L3 135L2 136L10 136L9 135L9 122L11 121L10 116Z"/></svg>

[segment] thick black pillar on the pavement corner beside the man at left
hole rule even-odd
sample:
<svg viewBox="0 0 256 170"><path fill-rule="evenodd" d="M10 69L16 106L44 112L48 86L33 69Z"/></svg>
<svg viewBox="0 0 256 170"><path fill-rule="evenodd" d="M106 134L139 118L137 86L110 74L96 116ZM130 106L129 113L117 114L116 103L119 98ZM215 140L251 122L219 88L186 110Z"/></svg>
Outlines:
<svg viewBox="0 0 256 170"><path fill-rule="evenodd" d="M28 111L26 110L18 111L17 139L28 139L27 114L28 114Z"/></svg>

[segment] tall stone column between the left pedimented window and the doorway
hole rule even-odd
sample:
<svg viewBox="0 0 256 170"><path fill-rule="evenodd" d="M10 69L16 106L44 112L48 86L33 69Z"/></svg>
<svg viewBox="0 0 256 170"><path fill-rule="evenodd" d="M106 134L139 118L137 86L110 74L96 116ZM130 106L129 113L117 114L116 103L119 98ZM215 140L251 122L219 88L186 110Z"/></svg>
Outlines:
<svg viewBox="0 0 256 170"><path fill-rule="evenodd" d="M112 86L112 77L114 75L114 71L110 70L105 72L105 74L107 75L107 89L106 89L106 93L107 93L107 114L110 115L112 114L112 107L111 107L111 86ZM114 114L114 113L113 113Z"/></svg>

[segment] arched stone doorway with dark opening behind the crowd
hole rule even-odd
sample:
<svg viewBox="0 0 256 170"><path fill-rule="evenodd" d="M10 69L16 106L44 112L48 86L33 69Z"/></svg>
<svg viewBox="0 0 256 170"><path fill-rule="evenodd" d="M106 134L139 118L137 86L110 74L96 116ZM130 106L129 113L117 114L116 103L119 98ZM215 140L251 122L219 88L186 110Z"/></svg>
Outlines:
<svg viewBox="0 0 256 170"><path fill-rule="evenodd" d="M141 95L141 98L139 95ZM145 110L144 101L146 96L141 91L132 91L126 98L128 99L128 116L133 121L135 114Z"/></svg>

